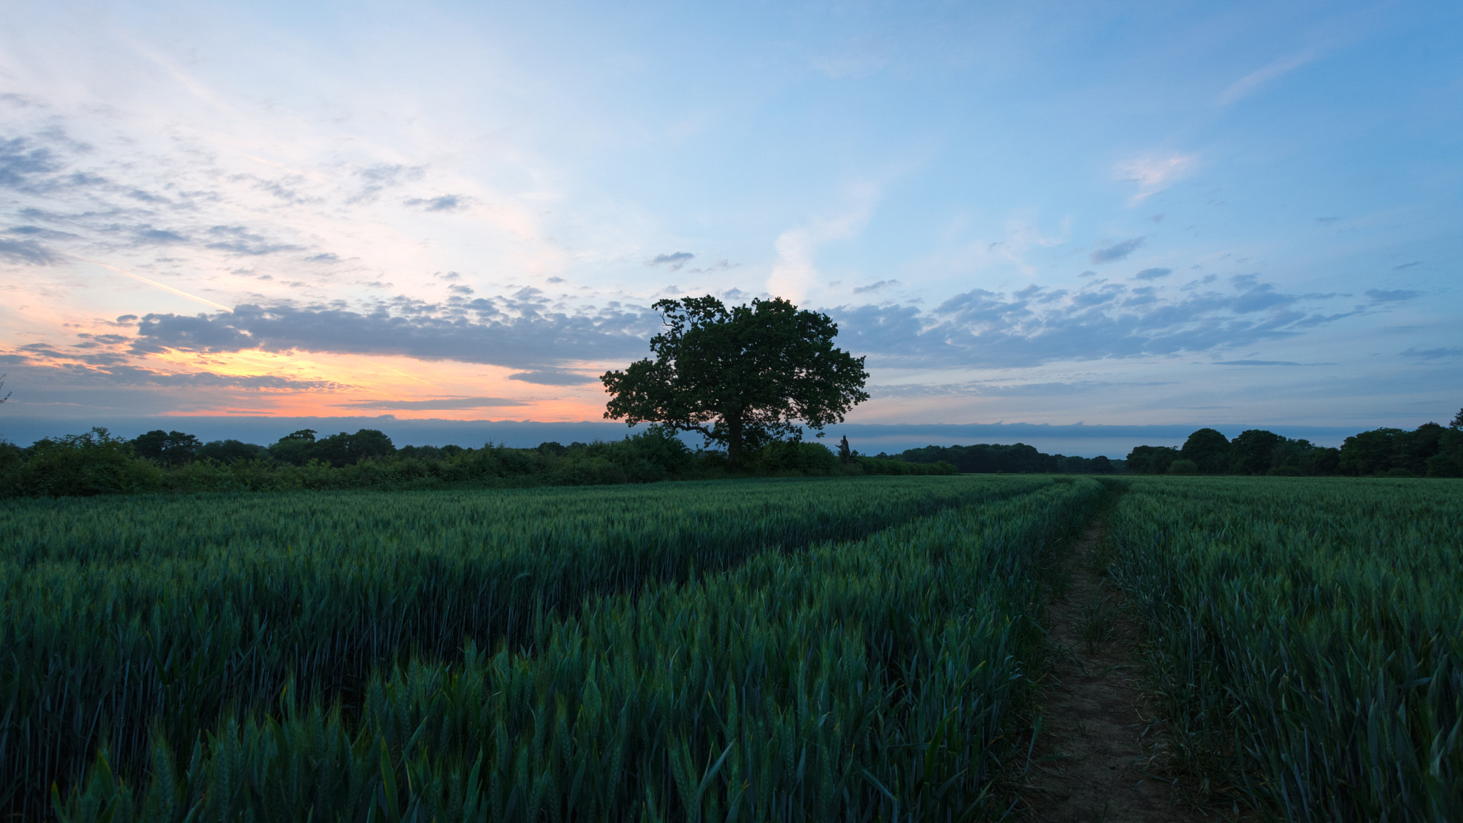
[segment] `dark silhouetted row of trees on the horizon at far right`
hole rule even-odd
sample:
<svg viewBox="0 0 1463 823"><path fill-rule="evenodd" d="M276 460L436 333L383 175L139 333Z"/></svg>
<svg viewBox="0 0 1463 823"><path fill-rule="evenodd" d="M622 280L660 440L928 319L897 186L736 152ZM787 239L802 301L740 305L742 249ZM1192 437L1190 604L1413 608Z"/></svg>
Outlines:
<svg viewBox="0 0 1463 823"><path fill-rule="evenodd" d="M1181 448L1140 445L1128 453L1137 474L1268 474L1292 477L1463 477L1463 410L1447 426L1381 428L1346 438L1340 448L1248 429L1235 439L1198 429Z"/></svg>

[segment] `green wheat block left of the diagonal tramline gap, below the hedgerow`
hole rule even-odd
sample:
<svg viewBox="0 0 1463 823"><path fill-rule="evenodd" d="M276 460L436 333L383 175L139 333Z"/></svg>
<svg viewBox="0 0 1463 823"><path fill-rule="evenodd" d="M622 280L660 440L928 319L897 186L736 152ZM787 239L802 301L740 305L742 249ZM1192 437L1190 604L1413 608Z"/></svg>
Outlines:
<svg viewBox="0 0 1463 823"><path fill-rule="evenodd" d="M98 750L138 779L288 688L357 710L373 671L465 643L537 649L557 617L767 549L859 539L1040 477L322 492L0 505L0 808L26 817Z"/></svg>

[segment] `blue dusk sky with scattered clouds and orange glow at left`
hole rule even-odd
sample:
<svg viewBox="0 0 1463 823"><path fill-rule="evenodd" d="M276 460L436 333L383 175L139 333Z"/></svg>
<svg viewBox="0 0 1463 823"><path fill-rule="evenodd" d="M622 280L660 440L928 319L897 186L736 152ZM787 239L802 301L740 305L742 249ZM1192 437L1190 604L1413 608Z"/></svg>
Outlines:
<svg viewBox="0 0 1463 823"><path fill-rule="evenodd" d="M692 294L832 316L859 425L1463 406L1457 3L6 16L0 436L600 420Z"/></svg>

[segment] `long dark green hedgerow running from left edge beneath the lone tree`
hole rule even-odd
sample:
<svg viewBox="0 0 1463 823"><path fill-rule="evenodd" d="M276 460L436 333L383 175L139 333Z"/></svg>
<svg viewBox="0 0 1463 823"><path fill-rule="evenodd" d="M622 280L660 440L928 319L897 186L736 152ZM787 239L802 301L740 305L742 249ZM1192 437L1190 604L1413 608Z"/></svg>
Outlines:
<svg viewBox="0 0 1463 823"><path fill-rule="evenodd" d="M484 444L396 448L377 429L317 436L312 429L271 445L203 442L178 431L136 438L102 428L0 442L0 496L72 496L138 492L290 489L432 489L449 486L590 486L737 476L954 474L948 463L868 457L843 444L772 441L733 464L724 451L691 450L664 426L620 441L543 442L533 448Z"/></svg>

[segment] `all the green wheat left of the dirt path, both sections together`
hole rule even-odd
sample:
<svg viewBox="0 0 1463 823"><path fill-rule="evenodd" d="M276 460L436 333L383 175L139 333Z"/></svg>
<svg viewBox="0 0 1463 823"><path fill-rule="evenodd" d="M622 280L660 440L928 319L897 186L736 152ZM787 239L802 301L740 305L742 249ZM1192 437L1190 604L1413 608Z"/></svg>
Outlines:
<svg viewBox="0 0 1463 823"><path fill-rule="evenodd" d="M76 820L114 801L114 820L363 819L382 791L474 819L440 804L481 759L483 802L518 794L494 819L531 819L535 792L628 817L691 807L682 769L739 741L727 775L799 810L882 802L860 769L901 802L969 804L1030 688L1040 636L1011 618L1039 548L1094 494L916 477L13 502L0 792L34 817L56 781ZM736 734L712 722L727 706ZM935 760L911 745L932 740ZM715 785L726 811L737 783Z"/></svg>

